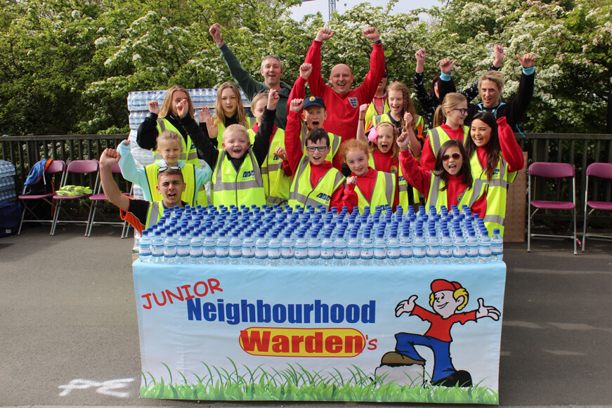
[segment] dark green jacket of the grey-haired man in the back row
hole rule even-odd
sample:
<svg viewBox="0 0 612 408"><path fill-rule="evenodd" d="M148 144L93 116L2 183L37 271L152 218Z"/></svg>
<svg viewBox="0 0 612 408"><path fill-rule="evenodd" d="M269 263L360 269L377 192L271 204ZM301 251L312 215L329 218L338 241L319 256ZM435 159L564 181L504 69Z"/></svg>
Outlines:
<svg viewBox="0 0 612 408"><path fill-rule="evenodd" d="M240 61L238 61L236 55L230 50L228 44L223 43L223 45L219 47L219 51L221 51L221 56L230 69L230 74L232 74L232 77L238 86L242 88L242 92L245 93L249 100L259 91L268 90L266 84L255 81L252 79L251 74L242 68ZM276 119L274 123L280 129L285 129L287 126L287 102L289 100L289 93L291 93L291 86L284 81L280 81L280 88L280 92L278 93L280 100L278 100L278 105L276 105Z"/></svg>

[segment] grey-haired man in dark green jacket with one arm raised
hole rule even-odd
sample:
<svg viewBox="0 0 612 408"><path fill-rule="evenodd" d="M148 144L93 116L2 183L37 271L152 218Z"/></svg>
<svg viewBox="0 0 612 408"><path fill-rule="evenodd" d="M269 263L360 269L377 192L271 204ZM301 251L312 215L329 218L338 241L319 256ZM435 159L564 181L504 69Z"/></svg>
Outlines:
<svg viewBox="0 0 612 408"><path fill-rule="evenodd" d="M269 89L275 89L278 92L280 100L276 105L276 119L275 124L281 129L285 129L287 125L287 102L289 100L289 93L291 92L291 86L280 80L282 75L282 61L276 55L268 55L261 61L261 75L263 75L263 83L252 79L251 75L247 70L242 68L240 61L236 58L236 55L230 50L230 47L223 41L221 37L221 25L218 22L211 25L209 32L214 39L216 46L221 51L223 60L226 61L230 74L242 88L247 98L251 100L256 93L260 91L268 91Z"/></svg>

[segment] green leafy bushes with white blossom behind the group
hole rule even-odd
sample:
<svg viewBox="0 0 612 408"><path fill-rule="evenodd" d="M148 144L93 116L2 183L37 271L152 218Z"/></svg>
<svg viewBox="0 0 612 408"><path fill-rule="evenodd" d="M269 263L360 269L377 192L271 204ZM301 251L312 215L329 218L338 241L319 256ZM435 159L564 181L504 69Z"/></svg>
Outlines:
<svg viewBox="0 0 612 408"><path fill-rule="evenodd" d="M427 49L425 76L437 61L457 58L458 88L471 85L506 48L502 98L516 93L517 53L536 55L535 94L523 131L603 133L611 86L611 0L451 0L411 13L359 4L334 13L335 34L323 46L323 76L345 62L356 84L369 67L370 41L381 32L391 80L412 84L414 54ZM21 0L0 13L0 131L20 134L117 133L128 130L129 91L174 84L207 88L231 80L208 32L219 22L223 39L243 67L261 80L264 55L280 55L292 84L321 15L289 16L299 0L80 1ZM423 14L424 13L424 14ZM426 15L419 19L419 15Z"/></svg>

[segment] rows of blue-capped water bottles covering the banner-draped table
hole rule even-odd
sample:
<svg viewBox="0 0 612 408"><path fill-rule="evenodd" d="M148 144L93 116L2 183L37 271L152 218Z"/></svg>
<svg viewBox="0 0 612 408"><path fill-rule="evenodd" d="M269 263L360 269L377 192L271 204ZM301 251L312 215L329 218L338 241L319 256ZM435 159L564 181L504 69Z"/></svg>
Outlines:
<svg viewBox="0 0 612 408"><path fill-rule="evenodd" d="M143 231L140 258L152 263L246 265L408 265L502 261L499 230L488 237L478 214L401 206L214 206L167 210Z"/></svg>

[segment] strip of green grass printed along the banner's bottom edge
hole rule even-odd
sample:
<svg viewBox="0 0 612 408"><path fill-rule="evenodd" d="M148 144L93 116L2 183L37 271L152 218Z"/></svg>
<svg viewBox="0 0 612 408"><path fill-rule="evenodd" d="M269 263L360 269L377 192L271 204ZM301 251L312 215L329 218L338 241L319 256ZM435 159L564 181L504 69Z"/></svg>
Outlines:
<svg viewBox="0 0 612 408"><path fill-rule="evenodd" d="M164 378L155 379L149 372L143 373L143 398L162 398L171 400L280 400L280 401L388 401L388 402L436 402L449 404L499 404L499 394L487 387L470 386L438 387L424 386L420 381L410 385L394 382L384 383L384 377L366 374L356 367L347 367L350 376L340 371L310 371L300 364L287 364L286 369L271 368L268 372L260 366L256 369L244 367L240 374L236 364L233 371L214 367L205 362L207 374L198 376L197 382L190 383L185 375L182 383L174 383L171 369L169 382ZM149 380L148 380L149 378Z"/></svg>

